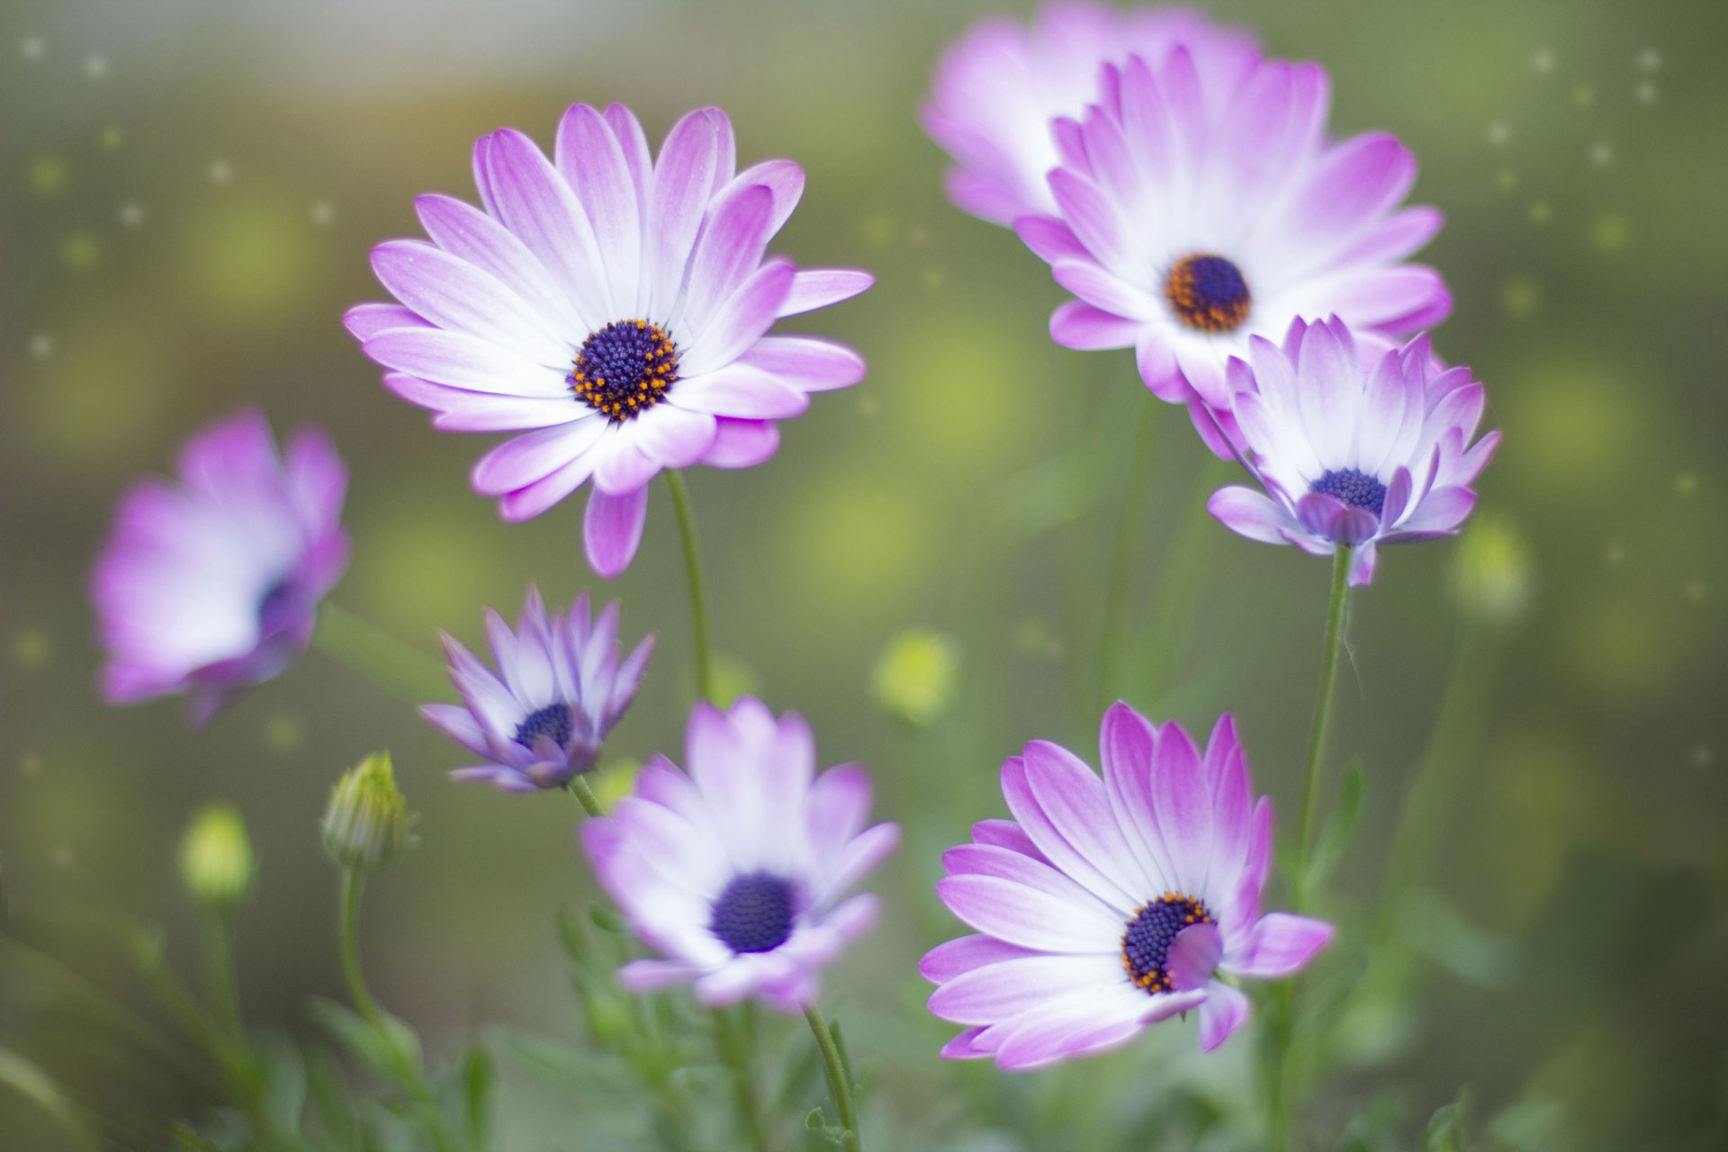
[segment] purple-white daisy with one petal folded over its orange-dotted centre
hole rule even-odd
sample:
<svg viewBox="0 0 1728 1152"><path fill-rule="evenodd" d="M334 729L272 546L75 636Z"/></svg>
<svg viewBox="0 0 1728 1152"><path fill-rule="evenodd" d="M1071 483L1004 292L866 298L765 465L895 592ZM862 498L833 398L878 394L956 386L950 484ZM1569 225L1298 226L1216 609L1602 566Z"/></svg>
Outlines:
<svg viewBox="0 0 1728 1152"><path fill-rule="evenodd" d="M1253 798L1236 724L1204 755L1177 724L1104 713L1104 777L1045 741L1002 765L1013 820L973 826L937 895L978 929L919 964L930 1010L966 1024L942 1050L1028 1069L1102 1052L1199 1012L1211 1052L1248 1017L1225 978L1279 978L1332 938L1320 921L1260 912L1272 801Z"/></svg>

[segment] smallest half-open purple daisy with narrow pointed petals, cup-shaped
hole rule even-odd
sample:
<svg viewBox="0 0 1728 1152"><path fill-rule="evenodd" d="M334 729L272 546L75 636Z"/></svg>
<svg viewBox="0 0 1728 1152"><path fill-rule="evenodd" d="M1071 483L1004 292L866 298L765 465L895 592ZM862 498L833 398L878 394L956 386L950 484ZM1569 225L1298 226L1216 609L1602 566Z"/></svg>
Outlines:
<svg viewBox="0 0 1728 1152"><path fill-rule="evenodd" d="M529 585L517 630L487 608L486 639L496 674L444 636L449 679L461 703L420 706L420 715L446 736L487 760L456 769L451 777L530 793L563 788L593 770L607 734L636 699L655 637L620 661L617 601L589 617L582 592L569 617L548 617L539 589Z"/></svg>

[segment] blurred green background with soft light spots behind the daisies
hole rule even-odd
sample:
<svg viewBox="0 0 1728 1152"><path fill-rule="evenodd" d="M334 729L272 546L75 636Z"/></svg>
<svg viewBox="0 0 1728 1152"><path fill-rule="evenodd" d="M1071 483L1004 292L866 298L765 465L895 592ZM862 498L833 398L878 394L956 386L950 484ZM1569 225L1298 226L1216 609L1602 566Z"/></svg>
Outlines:
<svg viewBox="0 0 1728 1152"><path fill-rule="evenodd" d="M1469 1083L1509 1147L1728 1147L1728 19L1609 0L1211 7L1268 52L1331 69L1334 135L1386 128L1419 155L1415 200L1448 216L1422 259L1457 299L1436 345L1476 368L1505 430L1479 518L1526 542L1531 582L1514 620L1472 625L1450 575L1458 544L1439 542L1389 551L1355 599L1336 758L1355 755L1367 786L1329 910L1391 922L1410 962L1365 983L1315 1131L1329 1140L1370 1107L1419 1126ZM434 1050L492 1021L575 1033L551 915L591 883L567 796L446 782L460 750L318 651L202 734L175 703L104 708L85 579L118 492L164 472L188 432L247 404L278 430L316 421L353 466L354 561L334 599L430 656L437 629L477 641L482 604L513 615L529 580L565 603L582 587L619 596L626 637L657 630L660 649L610 755L679 755L693 680L664 491L636 565L605 585L582 561L581 501L501 523L467 487L489 439L429 430L339 318L382 297L366 250L418 235L415 193L472 199L477 135L511 124L550 143L567 104L622 100L658 140L719 104L743 162L786 155L809 173L776 249L878 275L866 297L788 325L862 349L869 378L786 423L771 465L689 478L729 677L804 712L824 762L869 765L878 812L905 826L876 879L886 919L831 971L828 1000L873 1069L881 1147L1059 1147L978 1104L1002 1076L935 1055L952 1029L923 1014L914 964L956 931L930 895L938 853L1004 813L995 769L1026 739L1096 760L1115 696L1201 727L1236 712L1289 836L1327 565L1198 522L1199 485L1227 470L1168 413L1101 682L1121 484L1149 401L1127 354L1049 342L1063 294L1011 233L943 202L945 157L914 119L942 47L1004 9L1030 12L3 5L12 929L142 1002L98 926L162 922L190 967L175 843L200 803L233 800L261 860L240 927L247 1012L308 1033L306 997L339 986L316 819L337 772L387 746L423 843L372 891L380 997ZM924 731L873 696L873 665L905 627L961 651L954 699ZM1394 836L1443 699L1443 784ZM1394 841L1433 855L1388 905ZM14 993L0 986L0 1035L41 1045L74 1095L192 1107L161 1069L55 1050L24 978L0 979ZM1192 1028L1166 1024L1096 1069L1125 1097L1246 1092L1253 1040L1201 1060ZM1096 1069L1009 1090L1058 1098ZM572 1098L508 1073L505 1147L612 1147L572 1130ZM0 1086L0 1133L26 1131L0 1145L54 1147Z"/></svg>

